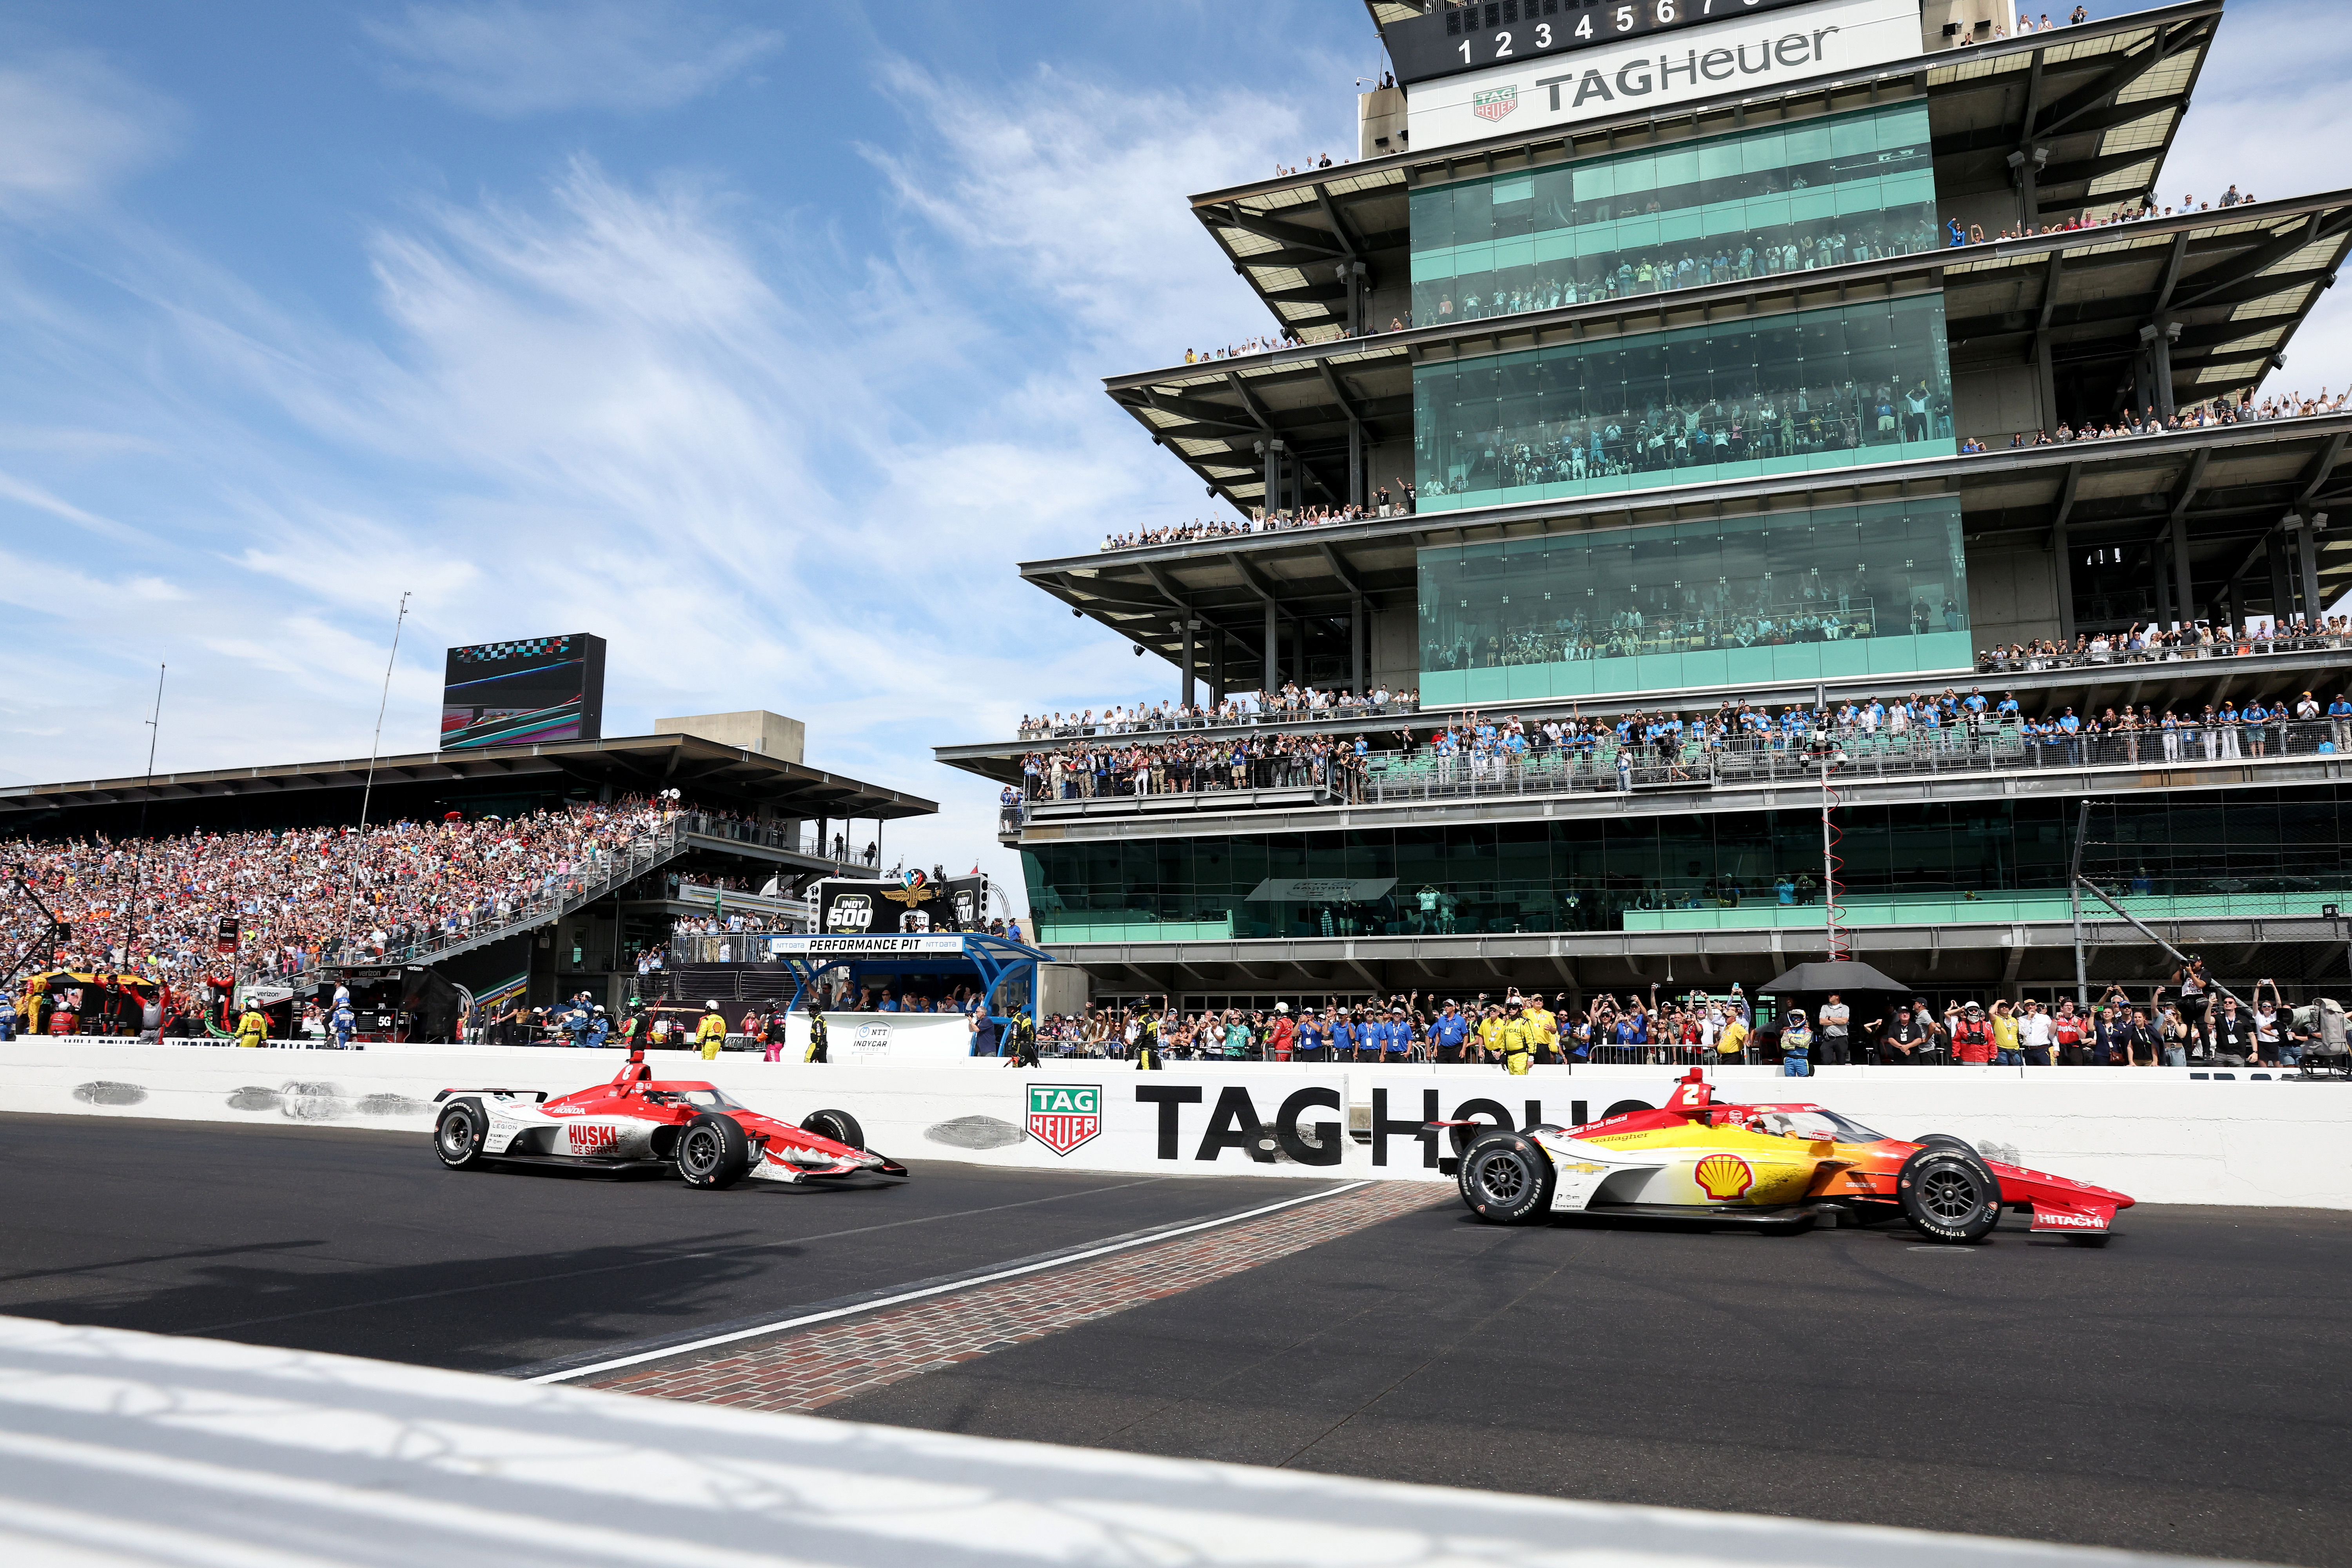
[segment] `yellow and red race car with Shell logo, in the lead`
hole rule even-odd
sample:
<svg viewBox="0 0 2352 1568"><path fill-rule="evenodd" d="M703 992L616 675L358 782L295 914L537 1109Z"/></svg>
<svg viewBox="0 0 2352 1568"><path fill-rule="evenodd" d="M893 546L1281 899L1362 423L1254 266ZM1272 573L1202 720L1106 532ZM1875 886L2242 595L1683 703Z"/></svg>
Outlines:
<svg viewBox="0 0 2352 1568"><path fill-rule="evenodd" d="M2032 1229L2105 1244L2122 1192L1985 1159L1947 1133L1886 1138L1823 1105L1729 1105L1693 1067L1665 1110L1583 1126L1432 1121L1454 1138L1442 1159L1470 1213L1534 1225L1555 1213L1809 1229L1823 1220L1910 1220L1931 1241L1983 1241L2002 1211Z"/></svg>

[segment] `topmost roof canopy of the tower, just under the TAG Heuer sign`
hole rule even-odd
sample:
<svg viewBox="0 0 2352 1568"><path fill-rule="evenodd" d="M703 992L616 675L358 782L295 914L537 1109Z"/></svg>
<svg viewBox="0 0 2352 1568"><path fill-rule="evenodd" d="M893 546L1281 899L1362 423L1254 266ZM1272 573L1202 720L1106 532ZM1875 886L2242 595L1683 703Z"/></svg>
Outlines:
<svg viewBox="0 0 2352 1568"><path fill-rule="evenodd" d="M1418 5L1402 0L1369 0L1367 9L1383 28L1421 14ZM1573 129L1465 141L1442 153L1303 169L1195 195L1192 214L1275 320L1312 343L1338 339L1348 327L1343 263L1364 261L1374 287L1409 277L1406 207L1414 186L1905 96L1929 99L1938 197L2011 190L2016 174L2009 158L2025 148L2030 160L2030 148L2042 148L2034 195L2044 219L2107 209L2152 188L2187 113L2220 9L2220 0L2183 0L2051 33L1936 49L1773 96L1724 94L1658 115L1628 113Z"/></svg>

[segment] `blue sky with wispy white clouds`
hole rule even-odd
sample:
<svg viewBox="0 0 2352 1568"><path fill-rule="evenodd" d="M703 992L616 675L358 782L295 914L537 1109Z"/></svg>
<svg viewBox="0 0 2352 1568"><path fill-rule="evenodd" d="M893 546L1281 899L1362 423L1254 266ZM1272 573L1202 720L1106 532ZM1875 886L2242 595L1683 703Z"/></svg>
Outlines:
<svg viewBox="0 0 2352 1568"><path fill-rule="evenodd" d="M2352 186L2347 56L2232 5L2166 197ZM386 750L593 630L609 733L788 712L1011 875L929 745L1174 686L1011 564L1209 510L1096 378L1268 327L1183 197L1378 68L1357 0L19 0L0 783L143 769L158 663L162 769L365 755L409 590ZM2345 383L2333 301L2288 355Z"/></svg>

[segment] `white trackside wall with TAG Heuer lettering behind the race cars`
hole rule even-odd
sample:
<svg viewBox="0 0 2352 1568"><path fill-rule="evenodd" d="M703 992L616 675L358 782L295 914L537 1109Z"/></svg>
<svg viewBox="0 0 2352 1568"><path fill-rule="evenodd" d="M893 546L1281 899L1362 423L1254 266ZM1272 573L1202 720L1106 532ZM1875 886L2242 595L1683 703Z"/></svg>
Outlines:
<svg viewBox="0 0 2352 1568"><path fill-rule="evenodd" d="M701 1079L753 1110L851 1112L896 1159L1070 1166L1164 1175L1404 1178L1437 1173L1423 1119L1526 1126L1661 1105L1665 1067L1496 1070L1197 1063L1134 1072L1056 1060L898 1065L701 1060L654 1051L656 1077ZM16 1112L256 1126L433 1126L440 1088L569 1093L612 1077L619 1051L376 1046L240 1051L214 1044L0 1044ZM2098 1182L2150 1204L2352 1208L2352 1086L2190 1077L2178 1067L1828 1067L1783 1079L1724 1067L1729 1100L1811 1100L1893 1138L1957 1133L1994 1159ZM426 1159L419 1143L419 1159Z"/></svg>

